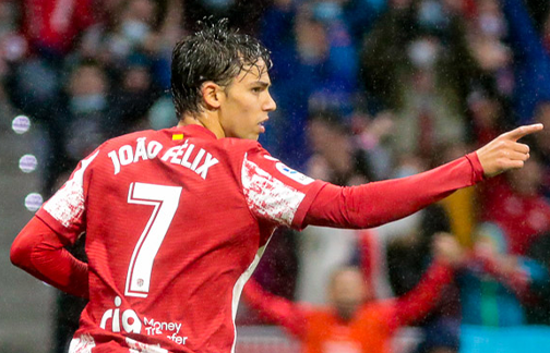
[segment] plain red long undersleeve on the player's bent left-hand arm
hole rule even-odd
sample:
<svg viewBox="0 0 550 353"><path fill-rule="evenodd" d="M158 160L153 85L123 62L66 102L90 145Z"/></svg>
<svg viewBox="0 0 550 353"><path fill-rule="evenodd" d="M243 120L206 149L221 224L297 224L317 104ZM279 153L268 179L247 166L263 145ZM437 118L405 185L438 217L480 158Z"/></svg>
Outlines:
<svg viewBox="0 0 550 353"><path fill-rule="evenodd" d="M65 248L58 234L37 217L23 228L10 251L13 265L72 295L88 297L88 267Z"/></svg>

